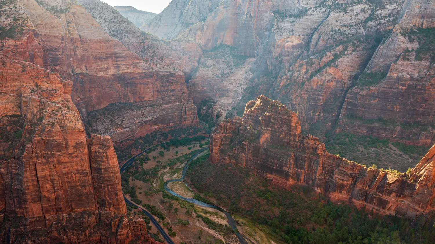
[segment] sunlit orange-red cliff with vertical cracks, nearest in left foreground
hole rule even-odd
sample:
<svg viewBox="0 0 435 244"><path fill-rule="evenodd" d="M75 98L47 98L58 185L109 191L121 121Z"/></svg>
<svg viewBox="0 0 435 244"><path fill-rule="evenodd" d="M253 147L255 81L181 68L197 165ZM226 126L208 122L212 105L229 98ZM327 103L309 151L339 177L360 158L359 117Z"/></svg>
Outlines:
<svg viewBox="0 0 435 244"><path fill-rule="evenodd" d="M0 58L3 243L154 243L128 219L108 136L87 139L73 84L40 66Z"/></svg>

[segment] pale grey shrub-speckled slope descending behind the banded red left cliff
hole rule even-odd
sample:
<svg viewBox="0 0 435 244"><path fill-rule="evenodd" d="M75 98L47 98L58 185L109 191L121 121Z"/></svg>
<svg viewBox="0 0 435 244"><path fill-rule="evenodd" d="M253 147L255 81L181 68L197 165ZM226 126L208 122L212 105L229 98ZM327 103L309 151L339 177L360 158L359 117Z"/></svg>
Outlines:
<svg viewBox="0 0 435 244"><path fill-rule="evenodd" d="M97 23L114 39L144 60L148 69L190 73L201 56L199 45L191 40L168 42L140 30L113 7L100 0L79 0Z"/></svg>

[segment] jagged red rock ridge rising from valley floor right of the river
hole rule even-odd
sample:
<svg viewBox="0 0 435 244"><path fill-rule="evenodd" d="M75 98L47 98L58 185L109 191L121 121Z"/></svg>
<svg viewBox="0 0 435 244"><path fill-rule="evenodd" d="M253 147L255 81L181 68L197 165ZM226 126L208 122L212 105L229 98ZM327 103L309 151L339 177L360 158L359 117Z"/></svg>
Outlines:
<svg viewBox="0 0 435 244"><path fill-rule="evenodd" d="M311 185L333 200L383 214L415 217L435 209L434 148L410 175L367 168L336 155L312 135L302 135L296 113L259 96L242 118L224 120L211 135L211 161L255 168L283 188Z"/></svg>

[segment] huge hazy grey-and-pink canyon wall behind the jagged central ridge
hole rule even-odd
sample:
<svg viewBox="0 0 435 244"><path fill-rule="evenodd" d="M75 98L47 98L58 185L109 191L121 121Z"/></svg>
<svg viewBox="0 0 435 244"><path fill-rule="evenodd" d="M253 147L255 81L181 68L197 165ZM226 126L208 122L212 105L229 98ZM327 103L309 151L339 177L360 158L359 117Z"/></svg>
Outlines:
<svg viewBox="0 0 435 244"><path fill-rule="evenodd" d="M231 117L265 94L303 129L435 142L433 1L218 2L173 1L144 29L204 49L188 84L196 105L211 97ZM227 46L246 62L222 55Z"/></svg>

